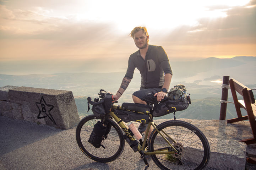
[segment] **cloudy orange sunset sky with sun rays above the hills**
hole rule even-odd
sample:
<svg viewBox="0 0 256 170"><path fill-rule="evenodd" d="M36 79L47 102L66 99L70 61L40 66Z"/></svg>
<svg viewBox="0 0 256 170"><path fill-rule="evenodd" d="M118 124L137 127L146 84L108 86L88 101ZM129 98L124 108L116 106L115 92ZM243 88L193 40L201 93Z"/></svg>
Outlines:
<svg viewBox="0 0 256 170"><path fill-rule="evenodd" d="M0 74L125 70L138 25L170 61L256 56L256 0L0 0Z"/></svg>

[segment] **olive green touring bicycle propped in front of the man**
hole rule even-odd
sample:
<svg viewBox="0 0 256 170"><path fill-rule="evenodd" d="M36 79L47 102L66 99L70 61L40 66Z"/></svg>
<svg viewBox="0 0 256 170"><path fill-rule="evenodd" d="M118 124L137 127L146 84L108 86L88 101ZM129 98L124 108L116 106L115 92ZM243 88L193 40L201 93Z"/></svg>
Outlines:
<svg viewBox="0 0 256 170"><path fill-rule="evenodd" d="M154 163L163 170L201 170L208 164L210 158L208 140L201 130L194 125L180 120L170 120L157 125L153 122L152 109L149 109L152 108L151 105L147 105L146 110L141 111L140 107L137 105L132 107L133 104L131 104L129 110L127 107L114 104L112 100L109 113L106 113L102 110L102 106L106 102L105 96L108 93L105 90L100 90L98 94L101 100L96 98L92 101L90 97L87 99L88 110L89 104L91 104L94 115L84 117L76 128L77 144L80 150L90 159L104 163L117 159L124 150L124 141L126 140L134 152L140 152L146 164L145 170L149 166L145 157L147 155L151 156ZM96 106L100 105L101 107L98 107L96 113ZM144 140L137 140L134 137L122 118L115 114L119 111L135 112L140 117L144 116L142 119L137 118L137 122L146 120L145 115L148 116L148 126ZM98 114L99 112L101 113ZM94 124L98 121L110 127L110 129L109 133L102 138L100 147L96 148L88 142L88 139ZM150 127L153 127L153 131L147 139Z"/></svg>

